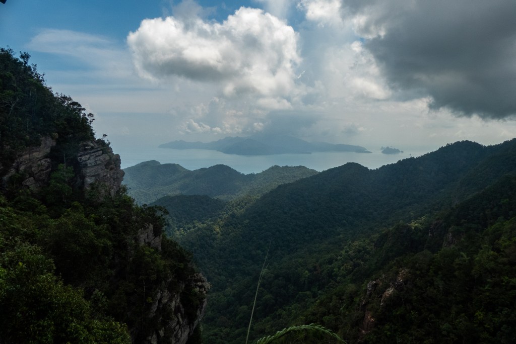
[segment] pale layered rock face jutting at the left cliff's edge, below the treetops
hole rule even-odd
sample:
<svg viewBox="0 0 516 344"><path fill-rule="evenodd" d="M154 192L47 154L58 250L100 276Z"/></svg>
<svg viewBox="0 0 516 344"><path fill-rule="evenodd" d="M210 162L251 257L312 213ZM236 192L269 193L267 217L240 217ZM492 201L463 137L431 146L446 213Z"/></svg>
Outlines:
<svg viewBox="0 0 516 344"><path fill-rule="evenodd" d="M80 144L77 160L80 166L79 183L85 192L95 188L98 197L115 196L120 189L124 171L120 169L120 156L102 140Z"/></svg>

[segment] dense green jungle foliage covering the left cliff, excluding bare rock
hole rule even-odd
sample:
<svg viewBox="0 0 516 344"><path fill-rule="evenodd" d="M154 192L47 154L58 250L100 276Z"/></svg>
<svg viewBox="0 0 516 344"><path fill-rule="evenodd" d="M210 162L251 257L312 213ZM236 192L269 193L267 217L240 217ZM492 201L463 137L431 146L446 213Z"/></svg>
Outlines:
<svg viewBox="0 0 516 344"><path fill-rule="evenodd" d="M156 319L170 320L150 307L158 289L181 290L194 272L190 255L167 238L159 251L138 243L138 231L152 225L159 235L164 220L124 188L86 197L73 184L93 116L53 94L28 59L0 48L0 177L43 136L56 145L41 190L21 185L23 171L0 179L0 342L141 342ZM195 316L199 300L190 299L185 312Z"/></svg>

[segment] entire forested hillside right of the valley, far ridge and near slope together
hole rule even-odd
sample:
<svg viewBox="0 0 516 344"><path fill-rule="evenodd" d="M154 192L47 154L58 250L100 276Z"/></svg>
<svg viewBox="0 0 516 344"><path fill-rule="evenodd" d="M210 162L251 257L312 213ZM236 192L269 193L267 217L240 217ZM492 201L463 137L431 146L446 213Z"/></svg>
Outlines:
<svg viewBox="0 0 516 344"><path fill-rule="evenodd" d="M349 342L509 342L514 152L465 141L348 163L199 223L180 242L212 283L204 340L243 340L267 255L254 336L317 322Z"/></svg>

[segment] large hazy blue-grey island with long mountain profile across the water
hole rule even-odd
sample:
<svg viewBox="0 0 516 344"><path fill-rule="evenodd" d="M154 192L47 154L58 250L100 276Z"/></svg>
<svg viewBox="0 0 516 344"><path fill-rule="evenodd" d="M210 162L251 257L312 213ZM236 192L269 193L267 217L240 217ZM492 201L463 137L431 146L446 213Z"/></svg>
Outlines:
<svg viewBox="0 0 516 344"><path fill-rule="evenodd" d="M208 149L226 154L258 156L270 154L309 154L314 152L356 152L370 153L361 146L308 142L292 136L253 135L250 137L224 137L224 139L204 142L172 141L158 146L173 149Z"/></svg>

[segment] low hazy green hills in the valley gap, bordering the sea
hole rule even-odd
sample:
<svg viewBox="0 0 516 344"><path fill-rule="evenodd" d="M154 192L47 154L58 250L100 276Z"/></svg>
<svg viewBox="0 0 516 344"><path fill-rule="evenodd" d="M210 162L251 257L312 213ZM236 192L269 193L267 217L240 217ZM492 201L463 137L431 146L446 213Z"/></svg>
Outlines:
<svg viewBox="0 0 516 344"><path fill-rule="evenodd" d="M223 200L260 196L280 184L317 174L304 166L272 166L261 173L248 175L225 165L190 171L178 164L160 164L155 160L127 167L124 171L124 184L140 204L176 195L206 195Z"/></svg>

